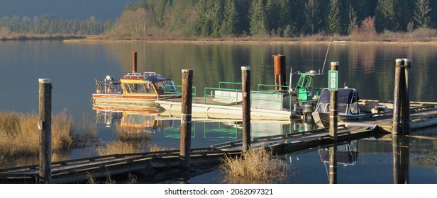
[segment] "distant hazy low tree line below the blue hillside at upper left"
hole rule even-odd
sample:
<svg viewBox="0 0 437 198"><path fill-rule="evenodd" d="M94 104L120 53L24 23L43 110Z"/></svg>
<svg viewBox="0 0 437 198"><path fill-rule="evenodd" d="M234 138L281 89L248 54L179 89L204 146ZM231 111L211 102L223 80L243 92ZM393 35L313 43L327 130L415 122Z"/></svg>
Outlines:
<svg viewBox="0 0 437 198"><path fill-rule="evenodd" d="M99 35L110 28L111 21L102 23L95 17L87 20L59 20L55 16L43 15L29 18L4 16L0 18L0 34L66 34Z"/></svg>

